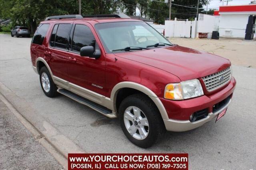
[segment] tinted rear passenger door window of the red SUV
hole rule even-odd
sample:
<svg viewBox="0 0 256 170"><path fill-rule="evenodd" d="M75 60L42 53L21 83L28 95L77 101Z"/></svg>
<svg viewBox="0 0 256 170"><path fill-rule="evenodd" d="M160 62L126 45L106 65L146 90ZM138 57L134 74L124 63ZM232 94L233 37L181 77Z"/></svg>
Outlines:
<svg viewBox="0 0 256 170"><path fill-rule="evenodd" d="M68 49L70 30L71 24L59 24L55 38L55 47Z"/></svg>

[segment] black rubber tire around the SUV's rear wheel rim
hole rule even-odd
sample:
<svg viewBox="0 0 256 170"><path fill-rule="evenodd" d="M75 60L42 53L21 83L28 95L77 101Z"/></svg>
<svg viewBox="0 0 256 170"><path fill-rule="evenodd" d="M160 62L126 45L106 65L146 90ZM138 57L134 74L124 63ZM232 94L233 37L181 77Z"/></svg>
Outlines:
<svg viewBox="0 0 256 170"><path fill-rule="evenodd" d="M50 90L48 92L46 92L44 90L44 87L42 85L42 80L41 80L41 77L42 77L42 73L46 73L46 75L48 76L49 78L49 82L50 82ZM54 84L53 80L52 80L52 77L51 77L51 74L50 72L48 71L48 69L44 66L40 69L40 73L39 73L39 79L40 79L40 85L42 87L42 90L44 91L44 94L48 97L56 97L59 93L57 92L57 89L58 87Z"/></svg>

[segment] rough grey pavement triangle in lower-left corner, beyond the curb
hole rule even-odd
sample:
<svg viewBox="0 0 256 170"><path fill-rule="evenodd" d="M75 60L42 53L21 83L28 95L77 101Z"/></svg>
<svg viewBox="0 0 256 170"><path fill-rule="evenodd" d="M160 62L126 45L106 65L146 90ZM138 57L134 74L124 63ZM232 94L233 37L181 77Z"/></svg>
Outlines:
<svg viewBox="0 0 256 170"><path fill-rule="evenodd" d="M0 101L0 169L62 169Z"/></svg>

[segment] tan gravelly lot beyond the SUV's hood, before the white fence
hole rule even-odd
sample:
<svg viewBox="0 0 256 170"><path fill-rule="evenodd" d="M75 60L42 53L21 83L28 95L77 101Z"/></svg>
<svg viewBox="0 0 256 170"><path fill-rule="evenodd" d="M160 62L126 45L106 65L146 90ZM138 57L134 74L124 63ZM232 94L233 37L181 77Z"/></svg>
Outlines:
<svg viewBox="0 0 256 170"><path fill-rule="evenodd" d="M256 41L220 38L169 38L170 42L230 59L232 64L256 68Z"/></svg>

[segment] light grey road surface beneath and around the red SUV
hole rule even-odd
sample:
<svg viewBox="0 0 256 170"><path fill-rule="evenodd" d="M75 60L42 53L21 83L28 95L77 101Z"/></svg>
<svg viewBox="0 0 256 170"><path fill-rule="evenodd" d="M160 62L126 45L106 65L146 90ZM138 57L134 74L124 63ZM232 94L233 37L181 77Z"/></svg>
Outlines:
<svg viewBox="0 0 256 170"><path fill-rule="evenodd" d="M106 118L63 95L46 97L31 67L30 42L29 38L0 35L0 91L39 130L51 125L86 152L181 152L189 154L193 169L256 167L255 68L232 67L237 86L226 115L218 123L211 121L188 132L167 132L158 144L143 149L129 142L118 119Z"/></svg>

